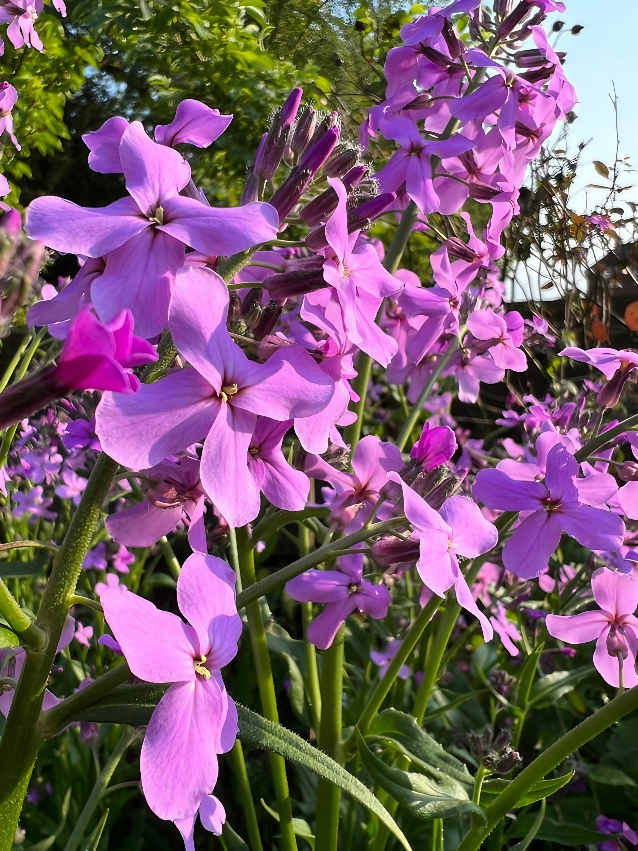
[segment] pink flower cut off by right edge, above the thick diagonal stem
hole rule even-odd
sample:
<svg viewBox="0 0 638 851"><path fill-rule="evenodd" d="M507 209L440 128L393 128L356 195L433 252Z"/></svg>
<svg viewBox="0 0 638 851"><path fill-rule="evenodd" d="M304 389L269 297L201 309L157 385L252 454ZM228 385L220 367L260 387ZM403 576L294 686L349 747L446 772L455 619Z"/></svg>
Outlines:
<svg viewBox="0 0 638 851"><path fill-rule="evenodd" d="M618 688L620 666L623 685L638 685L635 658L638 653L638 581L629 574L608 568L595 570L591 578L595 602L601 607L580 614L548 614L545 619L550 636L568 644L596 640L594 665L610 686Z"/></svg>

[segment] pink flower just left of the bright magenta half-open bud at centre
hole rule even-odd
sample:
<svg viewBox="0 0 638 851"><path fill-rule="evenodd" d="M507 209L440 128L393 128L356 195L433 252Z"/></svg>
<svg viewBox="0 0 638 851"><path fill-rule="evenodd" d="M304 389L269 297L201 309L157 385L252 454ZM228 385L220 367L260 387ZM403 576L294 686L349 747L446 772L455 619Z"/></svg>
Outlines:
<svg viewBox="0 0 638 851"><path fill-rule="evenodd" d="M318 455L309 455L305 461L310 477L333 488L333 494L324 491L324 499L330 505L331 523L338 523L345 534L362 528L388 474L402 470L403 460L394 443L382 443L379 437L367 435L356 444L351 464L354 472L347 473L331 467Z"/></svg>

